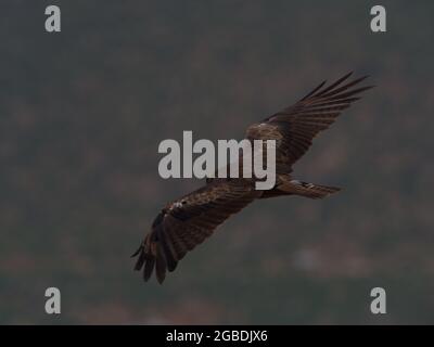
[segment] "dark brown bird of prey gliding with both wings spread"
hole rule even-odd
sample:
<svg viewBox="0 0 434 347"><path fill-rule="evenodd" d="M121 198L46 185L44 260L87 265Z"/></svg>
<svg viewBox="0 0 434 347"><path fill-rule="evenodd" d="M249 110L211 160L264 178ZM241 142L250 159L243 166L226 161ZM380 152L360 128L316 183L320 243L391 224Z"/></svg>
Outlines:
<svg viewBox="0 0 434 347"><path fill-rule="evenodd" d="M322 198L340 188L307 183L292 178L292 166L309 149L312 139L337 118L343 110L374 87L360 87L368 76L335 82L322 81L295 104L250 126L246 139L276 140L276 183L271 190L255 189L255 178L208 178L206 184L167 204L156 216L139 249L135 270L143 268L143 280L156 273L158 283L167 270L209 237L230 216L256 200L298 195Z"/></svg>

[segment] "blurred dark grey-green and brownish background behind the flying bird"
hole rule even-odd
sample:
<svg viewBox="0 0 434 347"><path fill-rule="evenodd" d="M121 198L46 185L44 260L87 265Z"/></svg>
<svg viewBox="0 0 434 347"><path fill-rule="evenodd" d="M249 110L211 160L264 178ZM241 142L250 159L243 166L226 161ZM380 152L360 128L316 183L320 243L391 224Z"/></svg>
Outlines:
<svg viewBox="0 0 434 347"><path fill-rule="evenodd" d="M374 4L2 1L0 323L434 323L434 3L382 1L383 34ZM203 184L159 178L158 143L242 139L349 70L378 87L294 171L343 192L255 203L144 284L129 256Z"/></svg>

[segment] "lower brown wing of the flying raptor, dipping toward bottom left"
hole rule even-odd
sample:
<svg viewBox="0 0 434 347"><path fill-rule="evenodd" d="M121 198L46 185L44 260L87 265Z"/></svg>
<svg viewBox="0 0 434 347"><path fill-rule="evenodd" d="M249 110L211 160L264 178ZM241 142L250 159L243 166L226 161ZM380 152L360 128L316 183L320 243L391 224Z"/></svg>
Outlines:
<svg viewBox="0 0 434 347"><path fill-rule="evenodd" d="M144 266L143 279L148 281L155 268L156 278L162 283L166 269L174 271L189 250L260 193L247 180L216 180L168 204L133 254L139 256L135 269L140 270Z"/></svg>

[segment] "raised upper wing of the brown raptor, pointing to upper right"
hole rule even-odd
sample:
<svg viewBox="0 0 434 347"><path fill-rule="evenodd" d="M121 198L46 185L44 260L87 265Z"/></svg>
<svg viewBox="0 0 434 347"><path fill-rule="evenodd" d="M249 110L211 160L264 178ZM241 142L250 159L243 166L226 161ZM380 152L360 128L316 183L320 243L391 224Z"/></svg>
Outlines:
<svg viewBox="0 0 434 347"><path fill-rule="evenodd" d="M294 105L247 128L250 140L277 141L276 168L279 174L291 172L293 164L307 152L318 132L329 128L343 110L359 100L359 93L373 87L353 88L368 76L347 81L350 75L328 87L323 81Z"/></svg>

